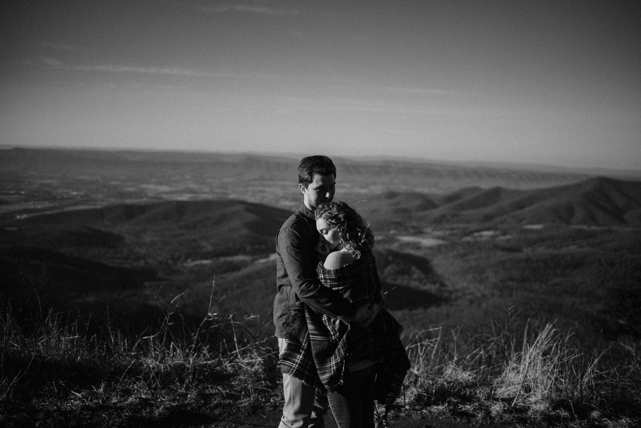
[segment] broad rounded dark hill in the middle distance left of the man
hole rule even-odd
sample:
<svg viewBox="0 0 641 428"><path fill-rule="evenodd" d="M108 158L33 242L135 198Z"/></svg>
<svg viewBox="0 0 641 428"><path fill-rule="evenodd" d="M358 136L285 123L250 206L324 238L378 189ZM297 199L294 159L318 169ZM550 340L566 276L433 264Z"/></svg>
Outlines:
<svg viewBox="0 0 641 428"><path fill-rule="evenodd" d="M165 201L60 210L4 222L6 243L60 249L119 248L143 241L154 248L194 259L265 254L287 210L244 201Z"/></svg>

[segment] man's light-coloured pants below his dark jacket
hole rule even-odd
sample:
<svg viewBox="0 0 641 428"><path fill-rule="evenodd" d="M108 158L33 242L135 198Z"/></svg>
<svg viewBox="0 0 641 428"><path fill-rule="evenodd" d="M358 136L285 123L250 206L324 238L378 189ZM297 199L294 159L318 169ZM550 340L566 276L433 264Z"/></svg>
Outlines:
<svg viewBox="0 0 641 428"><path fill-rule="evenodd" d="M278 338L278 350L285 350L285 339ZM278 428L324 428L327 395L290 375L283 375L285 406Z"/></svg>

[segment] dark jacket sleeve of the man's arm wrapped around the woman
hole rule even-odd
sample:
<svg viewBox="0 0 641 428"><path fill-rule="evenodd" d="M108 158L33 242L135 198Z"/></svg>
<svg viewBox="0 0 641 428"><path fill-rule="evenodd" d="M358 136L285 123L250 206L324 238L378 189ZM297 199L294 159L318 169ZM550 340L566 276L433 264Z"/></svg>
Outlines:
<svg viewBox="0 0 641 428"><path fill-rule="evenodd" d="M283 228L276 238L276 246L298 298L314 311L349 322L356 309L349 300L320 282L301 234L294 228Z"/></svg>

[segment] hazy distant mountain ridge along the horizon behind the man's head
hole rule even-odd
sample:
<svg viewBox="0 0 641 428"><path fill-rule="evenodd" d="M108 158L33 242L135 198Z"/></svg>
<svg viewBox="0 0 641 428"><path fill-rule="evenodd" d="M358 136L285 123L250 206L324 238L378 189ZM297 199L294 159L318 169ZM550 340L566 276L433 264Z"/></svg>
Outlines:
<svg viewBox="0 0 641 428"><path fill-rule="evenodd" d="M537 170L537 166L510 164L331 157L338 169L339 190L341 186L367 191L392 189L434 193L472 186L533 189L570 184L594 176L588 169L563 167ZM291 182L295 190L298 162L298 158L249 153L12 148L0 150L0 176L29 173L34 177L101 177L153 183L166 183L174 177L199 184L225 185L229 182L237 185L253 181ZM641 177L641 171L635 175L634 171L612 170L603 175L629 179Z"/></svg>

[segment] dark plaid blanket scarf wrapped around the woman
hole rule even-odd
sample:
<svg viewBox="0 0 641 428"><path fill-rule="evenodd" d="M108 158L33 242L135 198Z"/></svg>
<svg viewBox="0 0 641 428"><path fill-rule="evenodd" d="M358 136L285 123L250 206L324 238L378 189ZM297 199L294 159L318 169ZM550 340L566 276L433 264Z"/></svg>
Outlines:
<svg viewBox="0 0 641 428"><path fill-rule="evenodd" d="M340 291L356 305L381 302L381 284L372 253L337 270L319 264L319 278L325 286ZM399 339L403 327L385 309L369 327L319 314L305 306L308 332L303 341L287 341L279 357L283 373L313 386L335 391L343 384L349 361L376 361L374 398L392 404L399 395L410 361Z"/></svg>

